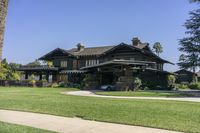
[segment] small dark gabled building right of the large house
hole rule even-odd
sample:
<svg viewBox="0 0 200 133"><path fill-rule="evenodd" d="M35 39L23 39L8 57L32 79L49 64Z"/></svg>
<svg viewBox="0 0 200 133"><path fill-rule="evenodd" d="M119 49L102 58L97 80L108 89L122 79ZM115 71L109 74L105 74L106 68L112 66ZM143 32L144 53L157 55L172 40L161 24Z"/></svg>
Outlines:
<svg viewBox="0 0 200 133"><path fill-rule="evenodd" d="M174 72L177 75L177 83L191 83L197 80L197 74L191 71L181 69Z"/></svg>

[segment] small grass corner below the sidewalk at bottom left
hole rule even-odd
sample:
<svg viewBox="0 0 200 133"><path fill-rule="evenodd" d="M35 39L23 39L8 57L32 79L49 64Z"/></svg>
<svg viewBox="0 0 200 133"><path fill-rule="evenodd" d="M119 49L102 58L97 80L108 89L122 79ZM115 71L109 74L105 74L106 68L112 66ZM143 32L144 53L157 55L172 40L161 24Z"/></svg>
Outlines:
<svg viewBox="0 0 200 133"><path fill-rule="evenodd" d="M0 133L54 133L54 132L27 126L0 122Z"/></svg>

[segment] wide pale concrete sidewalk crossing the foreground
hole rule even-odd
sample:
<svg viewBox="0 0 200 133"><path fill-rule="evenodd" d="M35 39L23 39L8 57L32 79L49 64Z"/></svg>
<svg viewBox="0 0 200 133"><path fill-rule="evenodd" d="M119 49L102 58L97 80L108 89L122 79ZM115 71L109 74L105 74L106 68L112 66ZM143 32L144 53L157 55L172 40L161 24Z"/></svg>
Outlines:
<svg viewBox="0 0 200 133"><path fill-rule="evenodd" d="M62 133L178 133L53 115L0 110L0 121Z"/></svg>

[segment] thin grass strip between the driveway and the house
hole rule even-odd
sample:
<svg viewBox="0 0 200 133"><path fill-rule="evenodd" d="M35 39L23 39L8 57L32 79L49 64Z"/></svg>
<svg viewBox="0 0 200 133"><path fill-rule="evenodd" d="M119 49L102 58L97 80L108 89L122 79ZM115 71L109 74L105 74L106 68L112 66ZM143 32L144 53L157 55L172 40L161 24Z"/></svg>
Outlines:
<svg viewBox="0 0 200 133"><path fill-rule="evenodd" d="M106 96L127 96L127 97L188 97L188 94L180 94L178 92L164 91L104 91L96 92L99 95Z"/></svg>

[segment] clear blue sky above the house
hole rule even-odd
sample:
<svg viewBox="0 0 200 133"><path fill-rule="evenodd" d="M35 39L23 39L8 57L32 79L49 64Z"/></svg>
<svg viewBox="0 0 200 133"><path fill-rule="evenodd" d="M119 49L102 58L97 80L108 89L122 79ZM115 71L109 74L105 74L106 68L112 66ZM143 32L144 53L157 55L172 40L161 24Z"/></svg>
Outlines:
<svg viewBox="0 0 200 133"><path fill-rule="evenodd" d="M177 63L183 24L197 8L188 0L10 0L3 58L27 64L55 48L160 42L161 57ZM165 65L165 70L178 70Z"/></svg>

